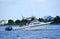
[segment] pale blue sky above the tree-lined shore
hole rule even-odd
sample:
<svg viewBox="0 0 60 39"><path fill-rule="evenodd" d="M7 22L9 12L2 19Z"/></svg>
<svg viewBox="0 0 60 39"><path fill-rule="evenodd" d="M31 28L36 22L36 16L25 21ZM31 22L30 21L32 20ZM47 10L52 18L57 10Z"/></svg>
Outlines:
<svg viewBox="0 0 60 39"><path fill-rule="evenodd" d="M60 0L0 0L0 20L60 16Z"/></svg>

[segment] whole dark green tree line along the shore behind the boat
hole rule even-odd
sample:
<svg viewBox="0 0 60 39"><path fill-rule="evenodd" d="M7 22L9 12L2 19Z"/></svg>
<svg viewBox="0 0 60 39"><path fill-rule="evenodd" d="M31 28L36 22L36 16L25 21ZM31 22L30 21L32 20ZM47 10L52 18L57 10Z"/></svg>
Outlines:
<svg viewBox="0 0 60 39"><path fill-rule="evenodd" d="M22 19L22 20L16 20L16 21L10 19L10 20L8 20L7 25L20 25L20 24L26 25L26 24L29 24L32 20L34 20L34 18L31 18L31 20ZM39 18L37 20L39 20L40 22L51 22L52 21L51 24L54 24L54 23L59 24L60 23L60 17L59 16L54 17L53 20L44 20L43 18Z"/></svg>

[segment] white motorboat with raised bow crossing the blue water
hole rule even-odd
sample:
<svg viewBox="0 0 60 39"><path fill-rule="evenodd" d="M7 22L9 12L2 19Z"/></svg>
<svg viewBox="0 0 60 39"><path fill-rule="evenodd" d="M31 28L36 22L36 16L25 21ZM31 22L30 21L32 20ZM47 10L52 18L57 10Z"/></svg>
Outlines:
<svg viewBox="0 0 60 39"><path fill-rule="evenodd" d="M24 30L39 30L39 29L47 28L48 24L50 24L50 22L44 23L44 22L39 22L38 20L33 20L28 25L25 25L20 28Z"/></svg>

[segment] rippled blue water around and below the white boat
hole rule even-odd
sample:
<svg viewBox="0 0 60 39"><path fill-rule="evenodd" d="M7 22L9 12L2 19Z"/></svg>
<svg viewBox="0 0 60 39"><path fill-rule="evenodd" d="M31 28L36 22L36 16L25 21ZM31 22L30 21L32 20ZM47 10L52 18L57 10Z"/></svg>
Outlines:
<svg viewBox="0 0 60 39"><path fill-rule="evenodd" d="M5 27L0 26L0 39L60 39L60 25L48 25L46 29L35 31L5 31Z"/></svg>

